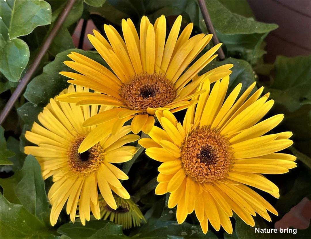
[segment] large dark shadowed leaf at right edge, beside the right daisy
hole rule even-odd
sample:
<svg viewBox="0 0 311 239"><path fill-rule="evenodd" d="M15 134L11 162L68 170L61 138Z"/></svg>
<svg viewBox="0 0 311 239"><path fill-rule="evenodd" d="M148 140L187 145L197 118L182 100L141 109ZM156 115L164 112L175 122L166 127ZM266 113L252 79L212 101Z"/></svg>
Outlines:
<svg viewBox="0 0 311 239"><path fill-rule="evenodd" d="M270 83L270 84L269 84ZM265 92L275 101L273 114L284 114L278 132L292 131L294 147L311 155L311 56L278 56Z"/></svg>

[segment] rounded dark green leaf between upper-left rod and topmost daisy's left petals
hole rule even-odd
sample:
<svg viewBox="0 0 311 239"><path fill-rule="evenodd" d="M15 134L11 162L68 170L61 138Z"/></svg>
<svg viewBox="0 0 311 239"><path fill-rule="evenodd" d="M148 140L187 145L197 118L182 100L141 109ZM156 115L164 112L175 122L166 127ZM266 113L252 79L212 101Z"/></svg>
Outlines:
<svg viewBox="0 0 311 239"><path fill-rule="evenodd" d="M35 105L45 106L50 98L53 98L68 86L68 78L60 75L59 72L73 71L63 63L65 60L70 60L67 55L72 51L83 54L108 67L100 55L95 51L69 49L61 52L56 55L54 61L43 68L43 73L41 75L35 77L27 85L24 96L28 101Z"/></svg>

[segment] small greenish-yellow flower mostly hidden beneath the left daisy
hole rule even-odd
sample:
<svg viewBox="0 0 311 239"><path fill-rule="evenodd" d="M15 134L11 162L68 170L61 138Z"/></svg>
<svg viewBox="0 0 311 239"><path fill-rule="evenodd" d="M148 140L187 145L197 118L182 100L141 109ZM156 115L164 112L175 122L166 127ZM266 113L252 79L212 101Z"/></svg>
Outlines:
<svg viewBox="0 0 311 239"><path fill-rule="evenodd" d="M124 199L115 195L117 209L112 209L103 198L98 195L100 204L100 216L103 220L120 224L123 229L140 226L141 220L146 222L137 205L131 199Z"/></svg>

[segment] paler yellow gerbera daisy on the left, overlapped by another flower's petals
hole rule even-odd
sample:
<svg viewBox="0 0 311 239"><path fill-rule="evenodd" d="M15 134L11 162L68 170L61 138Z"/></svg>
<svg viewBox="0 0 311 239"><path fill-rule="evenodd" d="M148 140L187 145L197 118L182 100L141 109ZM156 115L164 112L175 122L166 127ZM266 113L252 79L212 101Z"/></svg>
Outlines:
<svg viewBox="0 0 311 239"><path fill-rule="evenodd" d="M71 85L64 93L89 92L89 89ZM110 106L100 107L99 112L111 109ZM130 126L124 126L114 136L110 125L114 119L101 127L104 139L89 150L78 153L78 148L94 127L82 127L82 123L97 114L98 106L76 106L50 99L50 103L39 114L42 124L34 123L31 131L26 131L26 138L38 146L25 147L26 154L34 155L42 168L42 176L47 179L53 176L53 185L48 193L52 204L50 222L55 225L58 216L67 202L66 212L72 222L75 220L78 200L81 223L90 220L90 207L95 218L100 219L98 188L106 203L117 209L114 193L129 199L130 195L121 185L119 179L128 176L112 163L122 163L132 159L137 147L123 146L136 141L139 136L128 134ZM111 191L112 190L112 191Z"/></svg>

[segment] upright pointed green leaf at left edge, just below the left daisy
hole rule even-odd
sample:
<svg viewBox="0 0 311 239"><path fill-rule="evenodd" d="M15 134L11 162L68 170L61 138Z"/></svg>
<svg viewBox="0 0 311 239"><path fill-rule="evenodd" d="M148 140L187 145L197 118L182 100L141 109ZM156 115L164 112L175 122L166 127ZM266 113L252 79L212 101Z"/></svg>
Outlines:
<svg viewBox="0 0 311 239"><path fill-rule="evenodd" d="M8 179L0 179L0 184L8 200L22 204L42 222L49 222L49 202L41 167L35 157L28 155L23 168Z"/></svg>

